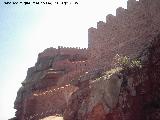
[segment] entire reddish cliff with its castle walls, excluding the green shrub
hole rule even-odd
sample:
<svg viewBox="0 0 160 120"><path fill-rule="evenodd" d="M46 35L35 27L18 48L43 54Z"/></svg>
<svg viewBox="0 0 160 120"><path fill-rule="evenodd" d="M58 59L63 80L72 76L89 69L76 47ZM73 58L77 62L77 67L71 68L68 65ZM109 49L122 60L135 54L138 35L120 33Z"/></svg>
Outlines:
<svg viewBox="0 0 160 120"><path fill-rule="evenodd" d="M89 29L88 49L48 48L17 93L17 120L160 120L160 1L129 0ZM142 67L113 67L116 54Z"/></svg>

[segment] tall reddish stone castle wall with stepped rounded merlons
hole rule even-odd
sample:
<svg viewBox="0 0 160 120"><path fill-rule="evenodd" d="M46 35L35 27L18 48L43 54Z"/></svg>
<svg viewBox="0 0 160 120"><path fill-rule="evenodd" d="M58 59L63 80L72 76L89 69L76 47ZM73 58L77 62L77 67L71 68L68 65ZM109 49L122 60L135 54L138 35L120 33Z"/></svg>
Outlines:
<svg viewBox="0 0 160 120"><path fill-rule="evenodd" d="M129 0L127 9L117 8L106 23L88 30L89 59L92 68L110 68L115 54L136 57L160 28L160 1ZM93 64L94 63L94 64Z"/></svg>

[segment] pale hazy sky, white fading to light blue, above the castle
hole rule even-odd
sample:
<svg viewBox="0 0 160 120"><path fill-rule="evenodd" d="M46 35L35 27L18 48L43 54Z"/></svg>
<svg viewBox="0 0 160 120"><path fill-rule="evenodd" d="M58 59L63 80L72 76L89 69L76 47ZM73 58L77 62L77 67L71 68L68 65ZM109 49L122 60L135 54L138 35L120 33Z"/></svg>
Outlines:
<svg viewBox="0 0 160 120"><path fill-rule="evenodd" d="M88 28L105 21L107 14L115 15L117 7L126 8L126 1L71 0L78 5L25 6L0 0L0 120L14 117L17 91L39 52L58 45L87 47Z"/></svg>

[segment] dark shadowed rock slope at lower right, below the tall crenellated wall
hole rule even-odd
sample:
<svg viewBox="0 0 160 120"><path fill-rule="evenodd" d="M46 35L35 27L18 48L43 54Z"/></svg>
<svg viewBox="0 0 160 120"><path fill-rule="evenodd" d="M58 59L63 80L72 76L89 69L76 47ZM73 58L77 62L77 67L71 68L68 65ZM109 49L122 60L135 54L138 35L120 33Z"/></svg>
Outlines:
<svg viewBox="0 0 160 120"><path fill-rule="evenodd" d="M145 56L147 59L141 61L142 68L123 71L125 78L119 71L108 79L102 74L99 78L88 80L88 86L78 89L71 96L64 120L159 120L159 50L160 35L146 48L148 54Z"/></svg>

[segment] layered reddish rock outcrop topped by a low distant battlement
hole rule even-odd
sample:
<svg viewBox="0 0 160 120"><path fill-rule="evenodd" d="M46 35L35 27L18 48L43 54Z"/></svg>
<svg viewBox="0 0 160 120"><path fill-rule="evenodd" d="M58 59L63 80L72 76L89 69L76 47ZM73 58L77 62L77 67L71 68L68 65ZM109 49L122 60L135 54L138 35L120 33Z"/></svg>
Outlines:
<svg viewBox="0 0 160 120"><path fill-rule="evenodd" d="M69 52L73 50L74 52ZM39 54L37 63L28 69L15 100L16 119L38 120L62 115L71 94L77 89L70 79L86 71L87 50L48 48Z"/></svg>

